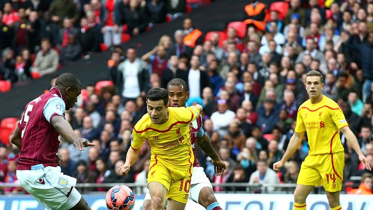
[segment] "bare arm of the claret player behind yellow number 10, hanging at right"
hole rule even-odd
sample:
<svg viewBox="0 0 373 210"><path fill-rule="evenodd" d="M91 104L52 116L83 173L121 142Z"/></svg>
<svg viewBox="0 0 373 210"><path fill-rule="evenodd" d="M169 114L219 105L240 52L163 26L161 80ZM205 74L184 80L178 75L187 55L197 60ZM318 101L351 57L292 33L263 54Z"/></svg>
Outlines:
<svg viewBox="0 0 373 210"><path fill-rule="evenodd" d="M206 134L203 134L202 137L197 137L197 144L200 146L202 151L211 157L212 164L214 164L214 172L216 175L221 175L226 169L224 161L222 161L215 151L214 147L211 144L211 140L207 137Z"/></svg>

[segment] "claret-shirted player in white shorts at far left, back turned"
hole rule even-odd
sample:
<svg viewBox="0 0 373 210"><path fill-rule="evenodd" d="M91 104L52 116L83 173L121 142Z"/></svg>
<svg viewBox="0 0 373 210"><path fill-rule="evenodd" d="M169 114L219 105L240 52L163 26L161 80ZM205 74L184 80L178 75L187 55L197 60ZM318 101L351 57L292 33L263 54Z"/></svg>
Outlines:
<svg viewBox="0 0 373 210"><path fill-rule="evenodd" d="M13 132L11 142L20 148L17 178L21 186L43 206L51 210L90 210L75 189L76 178L61 173L56 153L61 135L78 150L94 146L80 139L65 120L82 84L71 73L57 77L56 85L25 107L25 113Z"/></svg>

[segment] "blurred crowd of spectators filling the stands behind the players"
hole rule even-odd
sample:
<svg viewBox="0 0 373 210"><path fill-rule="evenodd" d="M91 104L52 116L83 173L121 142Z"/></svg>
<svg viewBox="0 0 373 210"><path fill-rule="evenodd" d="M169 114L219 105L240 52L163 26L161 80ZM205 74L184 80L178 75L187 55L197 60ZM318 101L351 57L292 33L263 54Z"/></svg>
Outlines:
<svg viewBox="0 0 373 210"><path fill-rule="evenodd" d="M129 8L135 1L130 1ZM84 19L85 24L97 20L97 16L93 20L88 18L90 9L92 15L97 15L97 2L104 5L99 0L92 0L85 4L89 6L81 8L80 13L74 13L76 18L71 16L63 21L53 20L57 16L52 13L53 6L48 10L50 14L46 9L43 14L51 17L49 23L59 22L60 25L54 23L55 26L64 29L60 30L62 39L51 39L56 41L54 43L42 39L42 43L48 41L48 47L64 43L70 46L74 40L71 38L74 20L79 14L87 16L81 20L81 32L77 30L78 34L82 33ZM340 105L372 166L373 2L290 0L281 2L281 5L288 5L287 13L270 10L269 4L248 1L242 9L245 14L242 21L247 29L243 34L240 33L242 27L229 27L224 33L210 32L203 36L192 20L186 18L173 37L162 36L154 49L142 56L136 53L136 48L116 46L117 26L105 26L103 40L106 35L111 35L113 43L109 46L114 46L108 60L108 78L103 79L111 80L113 85L101 89L95 89L94 84L88 85L76 107L66 112L66 119L75 132L96 146L79 152L72 144L62 142L62 172L76 177L79 183L146 184L150 159L147 144L141 148L130 175L119 176L118 168L123 165L130 147L133 125L146 113L146 92L154 87L167 88L168 81L177 77L188 84L187 105L203 105L204 132L227 166L222 176L215 176L210 159L199 150L197 158L211 182L296 183L300 164L309 151L306 135L281 172L276 173L271 168L288 146L298 107L308 99L304 83L309 70L322 72L325 83L322 93ZM4 17L11 22L10 14L4 9L3 22ZM29 19L30 16L31 13ZM92 29L91 26L86 27ZM71 29L68 36L65 36L65 29ZM145 28L129 24L127 30L136 35ZM41 53L45 52L43 44L41 49ZM30 51L33 52L31 48ZM86 52L90 51L93 50ZM8 57L13 59L13 53L11 55ZM21 60L22 56L16 60ZM37 58L38 55L35 60ZM325 124L307 126L322 129ZM366 184L360 187L365 190L352 192L372 193L372 172L359 163L354 150L340 135L345 147L344 181L348 182L351 176L363 176L362 183ZM17 150L14 148L8 151L6 147L0 147L0 176L4 182L17 179L15 154ZM19 190L10 188L4 192ZM214 188L216 192L230 190L245 191L246 188Z"/></svg>

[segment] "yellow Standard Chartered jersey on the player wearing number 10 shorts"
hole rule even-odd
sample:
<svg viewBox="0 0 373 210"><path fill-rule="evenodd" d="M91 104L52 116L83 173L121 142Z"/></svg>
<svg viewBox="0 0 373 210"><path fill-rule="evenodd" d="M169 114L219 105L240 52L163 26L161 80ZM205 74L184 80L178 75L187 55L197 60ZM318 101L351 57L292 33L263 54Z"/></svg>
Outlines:
<svg viewBox="0 0 373 210"><path fill-rule="evenodd" d="M169 107L169 120L164 124L153 124L145 114L134 126L131 146L138 149L147 139L151 147L151 162L190 170L194 161L190 143L189 123L200 114L195 106Z"/></svg>

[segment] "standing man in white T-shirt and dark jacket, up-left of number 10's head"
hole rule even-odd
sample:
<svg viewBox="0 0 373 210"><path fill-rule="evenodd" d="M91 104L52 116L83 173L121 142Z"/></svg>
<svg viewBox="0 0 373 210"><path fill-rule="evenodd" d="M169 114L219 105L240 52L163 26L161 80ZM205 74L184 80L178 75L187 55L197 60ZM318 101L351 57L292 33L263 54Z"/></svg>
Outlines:
<svg viewBox="0 0 373 210"><path fill-rule="evenodd" d="M117 92L122 95L122 104L135 101L139 95L145 96L148 91L149 74L146 63L136 57L136 49L127 49L127 59L118 66Z"/></svg>

